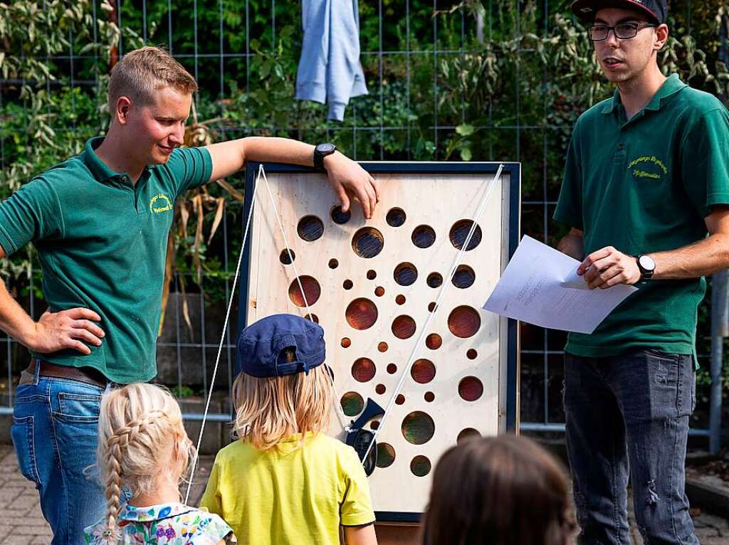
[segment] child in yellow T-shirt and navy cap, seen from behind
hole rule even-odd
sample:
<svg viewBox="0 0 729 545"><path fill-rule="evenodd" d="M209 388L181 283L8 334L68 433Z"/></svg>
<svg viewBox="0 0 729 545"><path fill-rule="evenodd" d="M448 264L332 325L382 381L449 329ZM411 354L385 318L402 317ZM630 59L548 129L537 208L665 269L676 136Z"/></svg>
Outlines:
<svg viewBox="0 0 729 545"><path fill-rule="evenodd" d="M294 315L263 318L238 339L238 440L218 452L201 506L240 544L376 545L362 463L327 436L332 378L324 330Z"/></svg>

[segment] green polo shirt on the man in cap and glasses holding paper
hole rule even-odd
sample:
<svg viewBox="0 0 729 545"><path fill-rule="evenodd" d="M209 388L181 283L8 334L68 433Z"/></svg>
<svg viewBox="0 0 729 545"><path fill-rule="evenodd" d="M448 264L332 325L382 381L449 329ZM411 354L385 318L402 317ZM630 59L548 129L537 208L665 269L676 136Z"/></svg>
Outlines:
<svg viewBox="0 0 729 545"><path fill-rule="evenodd" d="M725 204L729 114L674 75L630 121L617 91L577 119L554 219L584 232L585 255L615 246L637 256L705 238L704 218ZM706 280L636 287L593 334L570 333L565 350L586 357L635 348L694 353Z"/></svg>

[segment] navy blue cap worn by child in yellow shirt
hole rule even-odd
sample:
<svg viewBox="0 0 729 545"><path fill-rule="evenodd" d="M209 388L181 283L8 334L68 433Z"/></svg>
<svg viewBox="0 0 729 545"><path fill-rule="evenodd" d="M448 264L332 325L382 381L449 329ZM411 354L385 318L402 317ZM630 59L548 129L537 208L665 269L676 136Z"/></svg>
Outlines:
<svg viewBox="0 0 729 545"><path fill-rule="evenodd" d="M289 350L286 350L286 349ZM281 377L324 363L324 329L292 314L274 314L243 329L235 353L235 375Z"/></svg>

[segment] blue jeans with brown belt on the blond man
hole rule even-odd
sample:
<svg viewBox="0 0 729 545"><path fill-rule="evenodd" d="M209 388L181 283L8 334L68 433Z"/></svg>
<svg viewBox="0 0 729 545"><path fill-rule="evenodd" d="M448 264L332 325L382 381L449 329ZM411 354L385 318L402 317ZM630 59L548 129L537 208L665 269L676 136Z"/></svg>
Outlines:
<svg viewBox="0 0 729 545"><path fill-rule="evenodd" d="M39 377L15 391L12 442L20 471L36 485L52 545L82 545L83 530L104 517L96 444L102 388Z"/></svg>

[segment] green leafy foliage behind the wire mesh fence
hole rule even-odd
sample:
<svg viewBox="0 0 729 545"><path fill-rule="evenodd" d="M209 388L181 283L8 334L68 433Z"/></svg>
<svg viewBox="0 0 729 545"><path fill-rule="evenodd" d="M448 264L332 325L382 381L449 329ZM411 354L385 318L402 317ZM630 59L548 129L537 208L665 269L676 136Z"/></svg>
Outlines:
<svg viewBox="0 0 729 545"><path fill-rule="evenodd" d="M173 4L0 4L0 74L10 82L0 90L0 198L103 133L105 83L117 47L123 54L160 44L178 55L198 78L197 121L210 121L205 131L213 139L326 139L359 160L521 161L523 199L535 203L556 200L574 121L612 93L567 1L464 0L434 12L432 1L410 0L403 7L395 0L360 0L359 40L370 94L351 101L344 122L327 122L327 106L294 98L300 3ZM674 0L671 14L671 39L660 52L663 71L725 98L726 1ZM221 52L230 56L220 58ZM71 74L87 83L72 85ZM242 191L242 176L229 182ZM208 205L225 199L228 239L241 240L234 195L217 186L207 192ZM550 224L551 206L545 218L541 204L524 205L523 231L541 236L546 229L555 242L564 228ZM199 205L198 211L210 232L217 209ZM212 300L225 298L230 276L221 231L196 244L192 232L175 230L176 270L190 290L197 289L202 270ZM239 248L230 246L227 259L235 263ZM31 258L29 251L19 252L0 264L0 274L27 290ZM705 331L706 318L701 323Z"/></svg>

